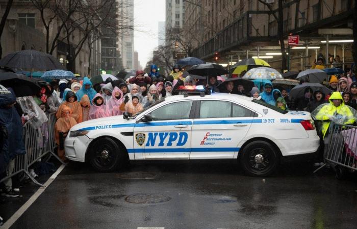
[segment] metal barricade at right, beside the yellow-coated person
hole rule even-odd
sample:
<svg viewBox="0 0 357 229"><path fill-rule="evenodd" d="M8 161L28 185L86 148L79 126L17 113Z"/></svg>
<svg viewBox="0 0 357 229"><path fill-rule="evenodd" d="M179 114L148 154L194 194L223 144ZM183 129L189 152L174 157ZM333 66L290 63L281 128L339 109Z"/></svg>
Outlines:
<svg viewBox="0 0 357 229"><path fill-rule="evenodd" d="M331 122L324 159L342 176L343 169L357 170L357 126Z"/></svg>

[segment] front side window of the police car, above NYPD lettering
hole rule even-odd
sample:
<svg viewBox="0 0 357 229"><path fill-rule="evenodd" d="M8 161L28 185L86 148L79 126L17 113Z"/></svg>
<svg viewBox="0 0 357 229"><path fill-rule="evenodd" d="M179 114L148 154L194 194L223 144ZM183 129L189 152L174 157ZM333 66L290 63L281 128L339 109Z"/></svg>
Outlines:
<svg viewBox="0 0 357 229"><path fill-rule="evenodd" d="M152 120L177 120L190 117L192 101L170 103L151 112Z"/></svg>

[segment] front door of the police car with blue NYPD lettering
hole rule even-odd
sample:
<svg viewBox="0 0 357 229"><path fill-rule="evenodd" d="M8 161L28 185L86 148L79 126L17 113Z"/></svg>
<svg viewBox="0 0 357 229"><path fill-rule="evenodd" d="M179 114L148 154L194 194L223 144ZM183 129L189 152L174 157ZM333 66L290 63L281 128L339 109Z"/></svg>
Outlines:
<svg viewBox="0 0 357 229"><path fill-rule="evenodd" d="M150 111L147 115L151 115L152 121L139 122L134 127L134 148L144 152L135 158L188 159L193 104L194 100L178 101Z"/></svg>

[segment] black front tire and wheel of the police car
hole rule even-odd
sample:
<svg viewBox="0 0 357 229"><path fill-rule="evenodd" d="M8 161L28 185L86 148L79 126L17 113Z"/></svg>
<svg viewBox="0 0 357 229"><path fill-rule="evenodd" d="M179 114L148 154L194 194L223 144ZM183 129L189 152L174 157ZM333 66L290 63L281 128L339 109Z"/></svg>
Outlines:
<svg viewBox="0 0 357 229"><path fill-rule="evenodd" d="M95 140L90 145L89 163L97 171L107 172L120 169L126 162L125 152L110 137Z"/></svg>

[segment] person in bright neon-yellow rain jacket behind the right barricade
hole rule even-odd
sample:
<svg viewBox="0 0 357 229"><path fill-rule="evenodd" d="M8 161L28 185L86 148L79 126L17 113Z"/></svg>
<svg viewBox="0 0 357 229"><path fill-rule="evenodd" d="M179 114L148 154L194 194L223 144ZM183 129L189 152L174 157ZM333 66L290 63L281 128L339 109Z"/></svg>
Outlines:
<svg viewBox="0 0 357 229"><path fill-rule="evenodd" d="M335 136L333 141L342 142L343 137L340 133L330 133L328 128L331 121L339 124L352 124L355 122L355 110L345 105L342 96L339 92L334 92L328 99L329 103L318 106L311 114L314 120L322 121L321 135L324 141L324 155L328 152L328 145L330 144L330 134ZM333 143L333 142L331 142Z"/></svg>

